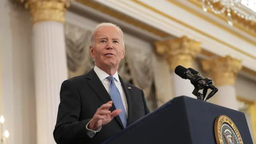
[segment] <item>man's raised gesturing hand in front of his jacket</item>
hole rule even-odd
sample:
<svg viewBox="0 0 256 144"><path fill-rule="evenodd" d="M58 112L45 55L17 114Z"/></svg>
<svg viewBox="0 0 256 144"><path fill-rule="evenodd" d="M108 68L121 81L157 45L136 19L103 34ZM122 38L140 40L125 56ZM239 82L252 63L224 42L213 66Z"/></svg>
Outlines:
<svg viewBox="0 0 256 144"><path fill-rule="evenodd" d="M113 102L109 101L106 104L102 104L102 106L98 108L88 124L88 128L90 130L96 130L100 128L100 126L108 124L115 116L118 116L118 114L121 113L122 110L120 109L110 112L109 108L112 106L112 104Z"/></svg>

